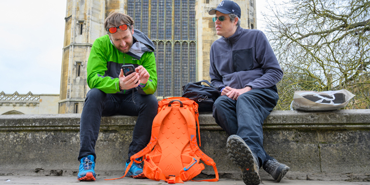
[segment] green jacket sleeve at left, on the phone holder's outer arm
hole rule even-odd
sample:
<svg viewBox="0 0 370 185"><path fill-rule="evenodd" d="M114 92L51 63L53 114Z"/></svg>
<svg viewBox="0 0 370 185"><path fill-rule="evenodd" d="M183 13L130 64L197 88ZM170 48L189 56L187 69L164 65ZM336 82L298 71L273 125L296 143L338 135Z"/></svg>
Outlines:
<svg viewBox="0 0 370 185"><path fill-rule="evenodd" d="M119 79L104 77L107 70L107 55L107 48L100 40L95 40L87 62L87 84L90 89L96 88L104 93L117 93L120 91Z"/></svg>

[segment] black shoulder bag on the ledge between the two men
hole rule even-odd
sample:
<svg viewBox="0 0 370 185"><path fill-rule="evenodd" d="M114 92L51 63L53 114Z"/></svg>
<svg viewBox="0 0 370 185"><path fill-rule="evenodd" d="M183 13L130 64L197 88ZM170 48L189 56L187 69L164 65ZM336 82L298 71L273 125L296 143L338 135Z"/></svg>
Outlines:
<svg viewBox="0 0 370 185"><path fill-rule="evenodd" d="M202 82L208 86L202 85ZM182 97L187 97L197 102L199 112L212 112L213 103L219 95L218 87L212 85L207 80L188 83L182 86Z"/></svg>

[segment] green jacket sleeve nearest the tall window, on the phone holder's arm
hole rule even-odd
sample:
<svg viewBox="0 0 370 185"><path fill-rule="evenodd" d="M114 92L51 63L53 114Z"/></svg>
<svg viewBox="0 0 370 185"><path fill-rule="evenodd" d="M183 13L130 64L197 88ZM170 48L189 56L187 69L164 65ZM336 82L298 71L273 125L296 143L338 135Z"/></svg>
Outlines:
<svg viewBox="0 0 370 185"><path fill-rule="evenodd" d="M149 72L150 77L145 87L136 87L136 89L140 94L154 94L157 90L157 66L154 53L145 52L140 60L142 61L141 65Z"/></svg>

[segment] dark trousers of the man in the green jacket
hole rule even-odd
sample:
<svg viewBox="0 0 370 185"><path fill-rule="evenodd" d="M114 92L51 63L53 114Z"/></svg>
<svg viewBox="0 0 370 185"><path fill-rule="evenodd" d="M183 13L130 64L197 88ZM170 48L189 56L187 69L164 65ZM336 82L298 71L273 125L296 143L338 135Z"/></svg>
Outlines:
<svg viewBox="0 0 370 185"><path fill-rule="evenodd" d="M129 146L128 158L130 158L149 143L157 108L158 100L153 94L143 95L136 90L131 90L128 94L106 94L99 89L91 89L86 95L81 114L78 160L89 155L96 159L95 144L101 117L113 115L137 116Z"/></svg>

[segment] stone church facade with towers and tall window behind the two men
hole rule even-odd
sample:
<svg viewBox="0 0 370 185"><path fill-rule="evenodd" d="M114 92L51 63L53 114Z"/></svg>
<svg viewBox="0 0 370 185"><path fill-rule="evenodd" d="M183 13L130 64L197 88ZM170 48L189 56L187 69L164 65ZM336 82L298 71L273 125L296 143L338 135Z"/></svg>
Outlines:
<svg viewBox="0 0 370 185"><path fill-rule="evenodd" d="M255 29L255 0L236 0L243 28ZM219 37L208 11L220 0L67 0L58 113L81 113L89 87L86 66L111 11L134 18L156 46L156 96L180 96L188 82L210 80L209 51Z"/></svg>

